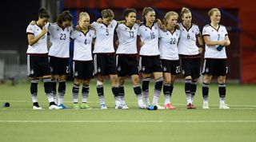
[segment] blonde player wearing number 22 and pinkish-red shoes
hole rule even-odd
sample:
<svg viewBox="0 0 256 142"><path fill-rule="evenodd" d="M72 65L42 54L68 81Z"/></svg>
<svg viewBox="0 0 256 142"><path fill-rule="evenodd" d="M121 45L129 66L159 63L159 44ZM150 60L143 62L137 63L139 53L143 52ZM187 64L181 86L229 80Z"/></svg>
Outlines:
<svg viewBox="0 0 256 142"><path fill-rule="evenodd" d="M178 60L178 39L180 30L177 29L178 14L174 11L166 13L164 25L166 31L159 30L159 50L163 72L163 93L165 96L165 108L176 108L170 104L170 97L174 89L175 77L180 73Z"/></svg>

